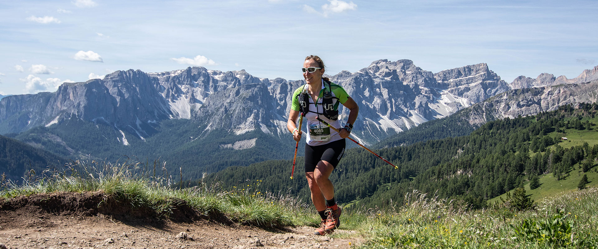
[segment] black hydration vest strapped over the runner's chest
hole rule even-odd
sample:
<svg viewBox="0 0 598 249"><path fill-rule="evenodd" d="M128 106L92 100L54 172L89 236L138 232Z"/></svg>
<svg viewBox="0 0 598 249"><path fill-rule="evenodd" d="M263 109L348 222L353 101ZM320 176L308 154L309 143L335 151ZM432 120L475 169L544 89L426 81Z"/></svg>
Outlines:
<svg viewBox="0 0 598 249"><path fill-rule="evenodd" d="M305 87L305 85L303 86ZM299 110L301 113L313 112L319 115L324 115L327 119L330 120L337 120L338 119L338 101L337 97L332 96L332 92L330 91L330 82L324 80L324 95L318 98L318 101L322 99L322 103L314 103L316 107L316 111L309 110L309 94L306 91L301 91L297 97L299 99ZM315 101L315 102L318 102ZM323 113L318 112L318 105L322 105Z"/></svg>

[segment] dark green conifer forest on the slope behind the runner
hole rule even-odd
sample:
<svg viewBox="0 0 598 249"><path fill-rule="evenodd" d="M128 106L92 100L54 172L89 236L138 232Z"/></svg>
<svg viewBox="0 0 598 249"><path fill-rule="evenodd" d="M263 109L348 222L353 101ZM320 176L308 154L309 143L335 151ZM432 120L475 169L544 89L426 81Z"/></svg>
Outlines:
<svg viewBox="0 0 598 249"><path fill-rule="evenodd" d="M331 175L335 197L344 203L357 201L364 207L388 207L402 204L405 193L418 189L472 207L484 207L488 199L523 186L541 174L552 173L562 179L575 164L586 170L594 167L598 145L563 148L558 144L560 133L554 131L570 128L595 131L596 124L588 120L597 110L596 103L563 106L536 116L488 122L468 136L376 151L398 169L361 148L349 149ZM577 121L590 126L576 126ZM300 161L298 165L293 180L289 179L292 167L289 160L227 168L204 180L218 179L224 186L263 180L262 191L290 193L309 201L303 163Z"/></svg>

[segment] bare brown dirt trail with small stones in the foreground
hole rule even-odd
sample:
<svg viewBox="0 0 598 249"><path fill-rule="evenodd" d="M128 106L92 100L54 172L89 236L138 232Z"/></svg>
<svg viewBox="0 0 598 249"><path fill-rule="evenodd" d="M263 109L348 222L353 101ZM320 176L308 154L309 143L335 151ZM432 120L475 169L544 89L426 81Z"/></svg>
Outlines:
<svg viewBox="0 0 598 249"><path fill-rule="evenodd" d="M175 221L165 220L130 213L130 208L110 201L105 204L109 208L86 207L93 207L97 200L93 193L62 193L0 201L0 244L7 248L246 249L350 248L358 242L312 235L314 228L307 226L265 230L199 216L181 222L182 214ZM335 233L352 232L339 229Z"/></svg>

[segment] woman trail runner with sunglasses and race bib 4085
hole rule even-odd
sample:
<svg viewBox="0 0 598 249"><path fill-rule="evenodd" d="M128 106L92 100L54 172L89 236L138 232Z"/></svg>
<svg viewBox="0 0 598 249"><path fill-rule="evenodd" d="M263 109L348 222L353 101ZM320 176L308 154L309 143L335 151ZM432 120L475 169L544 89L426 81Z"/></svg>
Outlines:
<svg viewBox="0 0 598 249"><path fill-rule="evenodd" d="M295 141L301 140L302 131L297 128L299 115L307 119L309 134L305 145L305 176L312 192L313 205L318 210L322 222L315 234L331 233L340 225L341 208L334 200L334 186L328 179L344 154L345 138L353 128L359 107L344 89L329 81L324 75L324 62L318 56L307 56L303 68L305 85L293 93L291 112L286 127ZM332 127L340 127L338 106L349 109L349 118L338 132Z"/></svg>

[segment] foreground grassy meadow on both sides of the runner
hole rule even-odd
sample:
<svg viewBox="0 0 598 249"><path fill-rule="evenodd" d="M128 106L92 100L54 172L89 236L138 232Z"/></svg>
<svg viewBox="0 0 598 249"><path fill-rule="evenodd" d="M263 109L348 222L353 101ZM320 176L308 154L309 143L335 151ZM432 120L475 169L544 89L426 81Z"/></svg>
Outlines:
<svg viewBox="0 0 598 249"><path fill-rule="evenodd" d="M226 216L263 228L316 226L312 205L261 189L261 179L236 186L199 183L181 189L173 179L155 177L160 165L153 170L147 166L74 162L68 171L48 171L45 177L32 176L23 185L4 182L0 198L100 191L134 207L149 207L164 219L177 205L186 203L206 216ZM142 168L150 170L140 173ZM358 236L362 242L352 245L355 248L596 248L596 199L598 188L588 187L543 198L521 211L508 201L470 210L467 205L411 190L403 203L385 210L346 208L341 229L355 232L330 236Z"/></svg>

